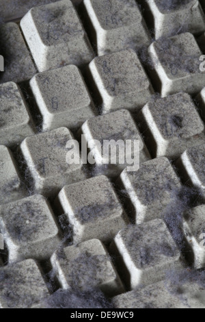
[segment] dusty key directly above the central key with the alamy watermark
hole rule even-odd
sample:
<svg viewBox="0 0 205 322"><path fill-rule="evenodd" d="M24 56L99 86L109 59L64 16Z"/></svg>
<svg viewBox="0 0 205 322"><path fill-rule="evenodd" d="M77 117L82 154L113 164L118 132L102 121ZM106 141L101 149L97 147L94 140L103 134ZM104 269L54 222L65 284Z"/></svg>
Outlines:
<svg viewBox="0 0 205 322"><path fill-rule="evenodd" d="M153 89L135 51L128 49L94 58L89 64L102 100L102 113L139 110Z"/></svg>

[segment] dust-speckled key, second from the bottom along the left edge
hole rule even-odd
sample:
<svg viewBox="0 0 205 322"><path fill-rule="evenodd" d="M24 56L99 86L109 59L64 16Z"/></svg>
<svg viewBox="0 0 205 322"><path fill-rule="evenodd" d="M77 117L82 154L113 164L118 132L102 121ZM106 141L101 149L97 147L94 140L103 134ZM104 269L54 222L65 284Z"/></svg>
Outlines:
<svg viewBox="0 0 205 322"><path fill-rule="evenodd" d="M50 258L60 241L51 206L41 195L0 206L0 231L10 262Z"/></svg>

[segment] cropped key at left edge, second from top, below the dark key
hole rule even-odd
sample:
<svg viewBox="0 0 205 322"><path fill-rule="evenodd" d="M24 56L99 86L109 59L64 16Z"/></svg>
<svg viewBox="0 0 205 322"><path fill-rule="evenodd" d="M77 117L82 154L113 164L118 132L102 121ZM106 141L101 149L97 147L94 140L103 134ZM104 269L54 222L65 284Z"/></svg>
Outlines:
<svg viewBox="0 0 205 322"><path fill-rule="evenodd" d="M0 144L16 145L35 134L33 121L20 88L13 82L0 85Z"/></svg>

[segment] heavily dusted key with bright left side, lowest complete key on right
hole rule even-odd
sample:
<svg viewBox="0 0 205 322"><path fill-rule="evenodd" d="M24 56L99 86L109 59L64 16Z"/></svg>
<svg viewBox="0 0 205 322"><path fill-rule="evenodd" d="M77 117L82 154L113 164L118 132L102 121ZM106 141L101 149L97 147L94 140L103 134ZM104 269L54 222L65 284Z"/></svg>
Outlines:
<svg viewBox="0 0 205 322"><path fill-rule="evenodd" d="M125 267L122 276L128 289L159 282L167 271L182 267L180 251L161 219L121 230L111 251L117 256L118 267Z"/></svg>

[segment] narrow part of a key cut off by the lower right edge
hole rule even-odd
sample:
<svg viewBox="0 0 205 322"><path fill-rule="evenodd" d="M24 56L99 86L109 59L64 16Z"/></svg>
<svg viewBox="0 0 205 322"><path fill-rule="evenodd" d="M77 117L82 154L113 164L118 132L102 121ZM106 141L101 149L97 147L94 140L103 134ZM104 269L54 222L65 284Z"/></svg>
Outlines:
<svg viewBox="0 0 205 322"><path fill-rule="evenodd" d="M195 269L205 267L205 206L197 206L184 213L183 232L193 251Z"/></svg>

